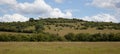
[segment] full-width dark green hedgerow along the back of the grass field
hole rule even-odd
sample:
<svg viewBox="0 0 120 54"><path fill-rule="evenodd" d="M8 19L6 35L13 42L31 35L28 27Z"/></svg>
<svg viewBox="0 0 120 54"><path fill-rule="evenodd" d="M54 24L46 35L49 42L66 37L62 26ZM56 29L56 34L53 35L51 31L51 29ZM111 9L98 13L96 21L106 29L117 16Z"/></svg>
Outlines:
<svg viewBox="0 0 120 54"><path fill-rule="evenodd" d="M120 41L120 33L109 33L109 34L73 34L68 33L65 36L59 36L58 34L49 33L35 33L35 34L0 34L0 41L28 41L28 42L51 42L51 41Z"/></svg>

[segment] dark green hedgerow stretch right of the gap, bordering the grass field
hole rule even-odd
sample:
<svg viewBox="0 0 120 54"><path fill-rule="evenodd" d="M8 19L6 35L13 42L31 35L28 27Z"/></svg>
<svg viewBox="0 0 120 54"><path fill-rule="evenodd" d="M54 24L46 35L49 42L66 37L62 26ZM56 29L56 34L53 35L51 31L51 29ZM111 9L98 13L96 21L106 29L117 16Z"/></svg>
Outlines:
<svg viewBox="0 0 120 54"><path fill-rule="evenodd" d="M65 35L65 39L68 41L120 41L120 33L117 34L73 34L69 33Z"/></svg>

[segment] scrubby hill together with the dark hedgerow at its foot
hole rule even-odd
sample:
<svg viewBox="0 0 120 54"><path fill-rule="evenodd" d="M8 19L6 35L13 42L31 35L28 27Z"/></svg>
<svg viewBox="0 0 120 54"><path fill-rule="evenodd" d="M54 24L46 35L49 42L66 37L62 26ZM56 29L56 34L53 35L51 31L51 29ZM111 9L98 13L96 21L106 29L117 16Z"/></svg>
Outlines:
<svg viewBox="0 0 120 54"><path fill-rule="evenodd" d="M48 18L0 22L0 41L120 41L120 23Z"/></svg>

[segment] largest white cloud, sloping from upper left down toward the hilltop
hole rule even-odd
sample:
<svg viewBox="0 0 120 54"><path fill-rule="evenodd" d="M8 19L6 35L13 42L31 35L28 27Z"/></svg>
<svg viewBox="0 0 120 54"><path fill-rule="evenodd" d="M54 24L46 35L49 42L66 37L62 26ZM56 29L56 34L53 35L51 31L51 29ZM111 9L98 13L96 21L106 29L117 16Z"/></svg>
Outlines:
<svg viewBox="0 0 120 54"><path fill-rule="evenodd" d="M32 3L19 3L17 0L0 0L0 5L6 5L13 12L22 15L30 14L41 17L72 17L71 12L62 12L59 8L51 7L44 0L34 0Z"/></svg>

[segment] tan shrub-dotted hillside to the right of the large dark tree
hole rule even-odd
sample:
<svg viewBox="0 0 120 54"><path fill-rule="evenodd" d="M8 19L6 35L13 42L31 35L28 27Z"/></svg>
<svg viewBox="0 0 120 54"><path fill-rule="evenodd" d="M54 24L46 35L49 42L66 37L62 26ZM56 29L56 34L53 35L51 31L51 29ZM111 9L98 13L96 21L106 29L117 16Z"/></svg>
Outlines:
<svg viewBox="0 0 120 54"><path fill-rule="evenodd" d="M119 33L120 24L112 22L88 22L78 19L46 20L45 32L64 36L68 33Z"/></svg>

